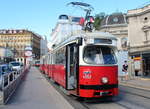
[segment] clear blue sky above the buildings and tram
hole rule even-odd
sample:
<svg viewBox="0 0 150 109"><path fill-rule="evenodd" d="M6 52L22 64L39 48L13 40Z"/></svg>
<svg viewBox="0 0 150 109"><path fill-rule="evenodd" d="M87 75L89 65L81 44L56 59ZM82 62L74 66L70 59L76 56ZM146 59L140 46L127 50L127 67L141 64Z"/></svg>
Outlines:
<svg viewBox="0 0 150 109"><path fill-rule="evenodd" d="M73 1L91 4L92 15L127 13L150 4L150 0L0 0L0 29L28 29L49 40L60 14L85 16L83 10L66 5Z"/></svg>

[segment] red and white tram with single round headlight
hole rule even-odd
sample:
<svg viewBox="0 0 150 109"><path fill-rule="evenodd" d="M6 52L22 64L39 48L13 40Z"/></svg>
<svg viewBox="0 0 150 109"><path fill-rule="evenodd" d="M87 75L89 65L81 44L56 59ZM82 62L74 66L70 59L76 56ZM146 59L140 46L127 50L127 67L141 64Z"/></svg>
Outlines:
<svg viewBox="0 0 150 109"><path fill-rule="evenodd" d="M70 94L118 95L116 38L91 32L69 37L41 59L40 69Z"/></svg>

